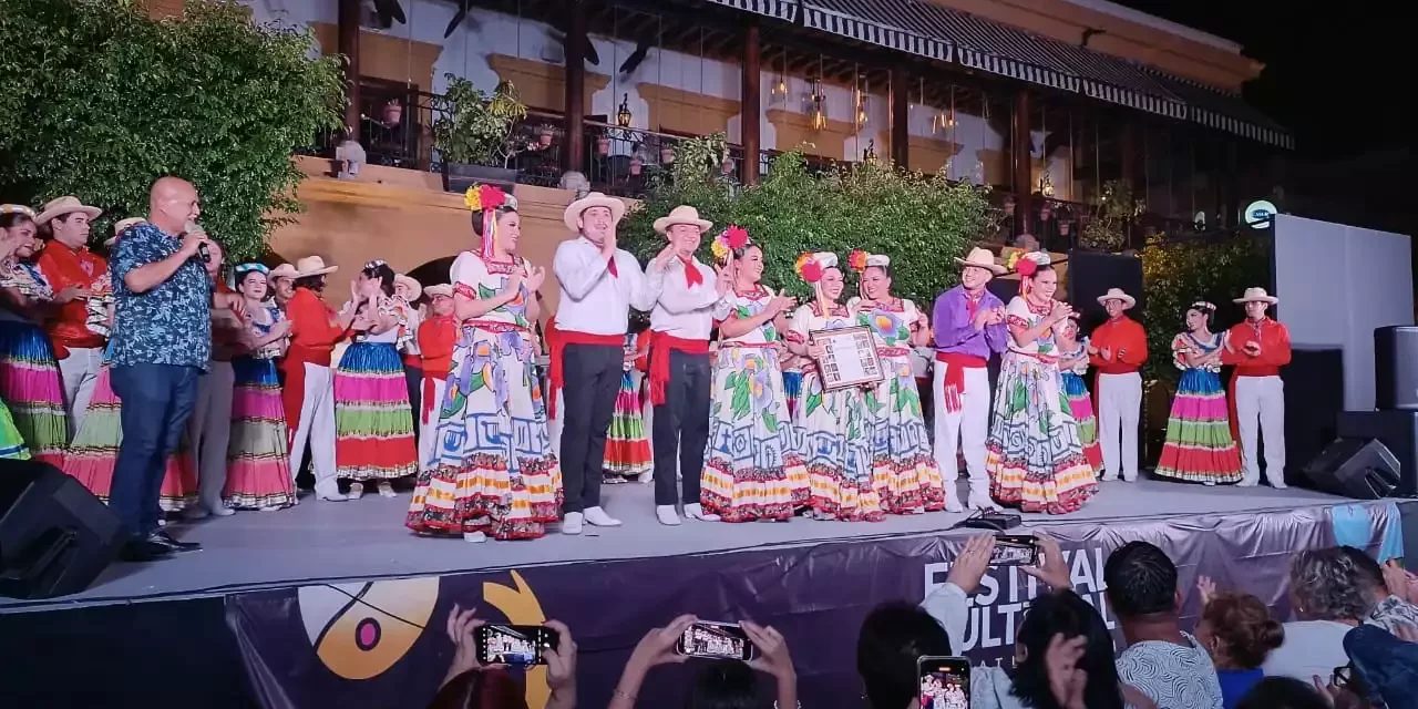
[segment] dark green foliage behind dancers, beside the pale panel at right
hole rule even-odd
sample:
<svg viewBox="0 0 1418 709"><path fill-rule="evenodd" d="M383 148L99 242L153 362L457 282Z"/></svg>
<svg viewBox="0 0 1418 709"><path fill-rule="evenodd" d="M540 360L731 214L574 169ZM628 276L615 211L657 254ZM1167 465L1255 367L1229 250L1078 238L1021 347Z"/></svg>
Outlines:
<svg viewBox="0 0 1418 709"><path fill-rule="evenodd" d="M1171 363L1171 340L1185 330L1187 308L1197 301L1215 303L1212 332L1245 318L1231 299L1271 281L1269 242L1244 233L1174 242L1153 238L1141 258L1149 350L1143 379L1174 389L1181 372Z"/></svg>

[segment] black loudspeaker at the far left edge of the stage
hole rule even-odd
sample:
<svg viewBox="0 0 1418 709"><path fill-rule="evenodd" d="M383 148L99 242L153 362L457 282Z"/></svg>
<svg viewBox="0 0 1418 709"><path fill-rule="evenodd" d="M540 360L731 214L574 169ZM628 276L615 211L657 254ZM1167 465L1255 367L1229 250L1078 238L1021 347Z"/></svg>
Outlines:
<svg viewBox="0 0 1418 709"><path fill-rule="evenodd" d="M0 596L51 598L86 588L113 560L118 518L38 461L0 461Z"/></svg>

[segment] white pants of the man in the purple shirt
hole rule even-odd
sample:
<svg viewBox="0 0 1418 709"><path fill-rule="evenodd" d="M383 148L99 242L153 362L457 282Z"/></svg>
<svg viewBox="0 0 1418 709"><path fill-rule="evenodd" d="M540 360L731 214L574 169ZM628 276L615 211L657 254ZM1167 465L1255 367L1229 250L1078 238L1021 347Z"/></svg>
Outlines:
<svg viewBox="0 0 1418 709"><path fill-rule="evenodd" d="M966 390L960 393L960 411L947 411L946 367L944 362L936 362L936 374L932 380L936 465L940 467L940 478L946 484L946 493L953 498L954 484L960 478L956 451L964 451L966 469L970 472L970 495L990 495L990 475L984 469L984 441L990 435L990 370L963 367Z"/></svg>

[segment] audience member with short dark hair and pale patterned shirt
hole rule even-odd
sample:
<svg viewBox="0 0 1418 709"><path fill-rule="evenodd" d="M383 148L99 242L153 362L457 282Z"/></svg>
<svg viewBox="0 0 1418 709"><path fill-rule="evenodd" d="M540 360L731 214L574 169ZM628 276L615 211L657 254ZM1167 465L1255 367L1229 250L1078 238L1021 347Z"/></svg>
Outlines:
<svg viewBox="0 0 1418 709"><path fill-rule="evenodd" d="M1177 566L1147 542L1129 542L1103 564L1107 604L1127 648L1117 676L1160 709L1221 709L1221 683L1197 638L1181 631Z"/></svg>

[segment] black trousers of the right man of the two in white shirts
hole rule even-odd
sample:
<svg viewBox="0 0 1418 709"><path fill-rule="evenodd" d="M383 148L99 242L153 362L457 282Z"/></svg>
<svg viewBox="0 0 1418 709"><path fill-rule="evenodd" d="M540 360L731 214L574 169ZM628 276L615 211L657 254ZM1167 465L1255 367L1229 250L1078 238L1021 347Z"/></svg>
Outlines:
<svg viewBox="0 0 1418 709"><path fill-rule="evenodd" d="M651 434L655 450L655 505L676 502L698 505L699 478L703 474L705 447L709 442L709 391L713 372L708 353L668 352L669 383L665 384L665 403L655 404L655 430ZM676 469L683 478L681 495L675 495Z"/></svg>

